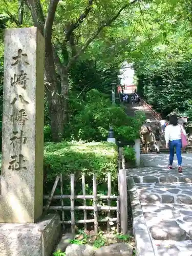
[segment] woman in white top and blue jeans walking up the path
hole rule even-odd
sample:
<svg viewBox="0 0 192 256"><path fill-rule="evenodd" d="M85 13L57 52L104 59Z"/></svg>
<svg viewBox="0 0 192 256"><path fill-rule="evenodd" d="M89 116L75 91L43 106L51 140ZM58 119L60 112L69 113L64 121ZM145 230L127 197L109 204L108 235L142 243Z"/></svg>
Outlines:
<svg viewBox="0 0 192 256"><path fill-rule="evenodd" d="M173 169L174 151L176 147L177 161L178 161L178 172L182 173L182 156L181 156L181 133L186 136L186 132L182 125L177 123L177 115L169 116L169 124L165 128L165 141L166 148L169 147L169 169Z"/></svg>

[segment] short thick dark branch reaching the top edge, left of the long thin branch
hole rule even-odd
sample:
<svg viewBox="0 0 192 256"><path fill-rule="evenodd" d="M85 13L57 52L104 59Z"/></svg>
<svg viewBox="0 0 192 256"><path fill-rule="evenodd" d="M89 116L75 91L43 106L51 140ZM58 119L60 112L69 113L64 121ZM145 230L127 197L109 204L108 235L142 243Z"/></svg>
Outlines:
<svg viewBox="0 0 192 256"><path fill-rule="evenodd" d="M65 29L65 34L66 34L66 41L69 41L69 38L71 36L71 33L73 30L78 28L83 20L88 16L88 14L93 10L93 1L94 0L89 0L88 6L84 10L84 12L79 16L79 18L76 20L75 23L72 23L69 28Z"/></svg>

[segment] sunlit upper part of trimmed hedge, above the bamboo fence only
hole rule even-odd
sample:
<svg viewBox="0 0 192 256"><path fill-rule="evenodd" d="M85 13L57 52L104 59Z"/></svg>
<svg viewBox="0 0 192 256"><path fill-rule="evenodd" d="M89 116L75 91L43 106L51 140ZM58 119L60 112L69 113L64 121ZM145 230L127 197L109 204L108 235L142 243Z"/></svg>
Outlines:
<svg viewBox="0 0 192 256"><path fill-rule="evenodd" d="M44 166L48 180L58 174L87 176L97 174L98 182L105 180L107 173L116 179L117 146L108 142L60 142L45 143Z"/></svg>

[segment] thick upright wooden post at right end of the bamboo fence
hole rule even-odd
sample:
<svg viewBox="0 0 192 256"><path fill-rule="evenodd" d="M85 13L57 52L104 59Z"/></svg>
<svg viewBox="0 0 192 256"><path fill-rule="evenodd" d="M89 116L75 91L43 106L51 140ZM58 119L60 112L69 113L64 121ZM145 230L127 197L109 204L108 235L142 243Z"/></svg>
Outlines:
<svg viewBox="0 0 192 256"><path fill-rule="evenodd" d="M119 197L120 197L120 221L121 221L121 233L127 233L127 182L126 182L126 170L119 169L118 177L118 186L119 186Z"/></svg>

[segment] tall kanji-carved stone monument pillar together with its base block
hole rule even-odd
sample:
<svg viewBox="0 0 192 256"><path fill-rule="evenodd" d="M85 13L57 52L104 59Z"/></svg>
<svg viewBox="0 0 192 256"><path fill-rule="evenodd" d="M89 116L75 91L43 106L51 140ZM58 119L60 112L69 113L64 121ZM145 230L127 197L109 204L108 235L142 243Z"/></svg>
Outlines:
<svg viewBox="0 0 192 256"><path fill-rule="evenodd" d="M5 31L1 256L50 256L60 236L60 217L41 216L44 52L37 28Z"/></svg>

